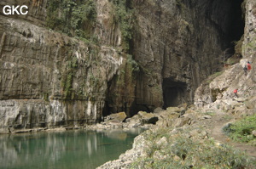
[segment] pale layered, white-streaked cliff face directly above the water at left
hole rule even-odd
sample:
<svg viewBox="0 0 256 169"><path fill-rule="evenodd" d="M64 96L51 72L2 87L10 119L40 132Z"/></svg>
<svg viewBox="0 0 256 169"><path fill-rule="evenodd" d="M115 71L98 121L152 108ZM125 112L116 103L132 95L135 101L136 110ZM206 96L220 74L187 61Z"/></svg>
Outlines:
<svg viewBox="0 0 256 169"><path fill-rule="evenodd" d="M46 1L23 3L28 15L0 15L1 132L99 121L124 55L44 28Z"/></svg>

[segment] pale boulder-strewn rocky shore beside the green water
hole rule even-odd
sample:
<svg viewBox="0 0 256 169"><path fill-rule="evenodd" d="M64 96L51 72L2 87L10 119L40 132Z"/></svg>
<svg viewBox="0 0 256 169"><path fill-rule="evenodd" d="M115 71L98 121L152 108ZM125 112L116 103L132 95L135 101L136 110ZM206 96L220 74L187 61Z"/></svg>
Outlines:
<svg viewBox="0 0 256 169"><path fill-rule="evenodd" d="M253 115L256 112L256 106L252 103L254 99L228 97L201 108L188 107L186 104L169 107L166 110L158 108L154 113L147 114L156 116L158 121L150 124L146 132L135 138L133 148L120 155L118 160L108 161L97 169L158 168L160 166L193 168L209 164L212 164L214 168L236 166L235 168L253 169L255 167L253 161L254 163L256 161L254 153L256 147L243 144L244 146L240 146L241 151L230 147L232 144L230 139L224 135L223 128L242 116ZM139 112L138 115L127 119L126 121L130 123L124 123L123 127L143 127L142 114L143 112ZM104 126L105 123L110 122L107 121L98 126ZM253 132L251 134L253 135ZM221 153L229 157L224 157L224 159L219 157L216 160L215 158ZM207 162L205 156L209 154L211 156L207 157ZM239 159L240 162L229 163L235 159ZM218 163L213 164L214 161Z"/></svg>

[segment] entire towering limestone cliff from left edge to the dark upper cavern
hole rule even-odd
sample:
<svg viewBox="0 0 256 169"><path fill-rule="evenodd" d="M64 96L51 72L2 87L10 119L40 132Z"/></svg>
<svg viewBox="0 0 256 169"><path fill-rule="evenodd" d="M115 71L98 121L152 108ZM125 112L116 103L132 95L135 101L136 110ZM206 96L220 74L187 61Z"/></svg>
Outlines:
<svg viewBox="0 0 256 169"><path fill-rule="evenodd" d="M222 67L223 51L234 53L241 3L1 1L2 132L193 103L195 88ZM29 12L7 16L6 4Z"/></svg>

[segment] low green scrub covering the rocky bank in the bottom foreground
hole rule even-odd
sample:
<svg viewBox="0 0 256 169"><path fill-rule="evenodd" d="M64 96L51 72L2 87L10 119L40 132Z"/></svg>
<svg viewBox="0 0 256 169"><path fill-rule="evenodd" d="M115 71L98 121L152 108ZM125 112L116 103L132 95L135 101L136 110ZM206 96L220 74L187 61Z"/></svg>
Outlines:
<svg viewBox="0 0 256 169"><path fill-rule="evenodd" d="M247 155L227 145L216 145L213 139L189 138L189 130L174 135L168 129L147 133L147 156L138 158L131 168L223 169L253 165ZM171 133L171 134L170 134ZM157 144L166 137L167 144Z"/></svg>

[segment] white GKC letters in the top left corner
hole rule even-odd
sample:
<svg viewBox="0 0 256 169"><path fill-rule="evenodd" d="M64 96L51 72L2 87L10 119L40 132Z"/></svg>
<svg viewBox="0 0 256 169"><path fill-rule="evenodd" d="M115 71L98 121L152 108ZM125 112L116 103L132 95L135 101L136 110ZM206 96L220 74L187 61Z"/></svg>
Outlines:
<svg viewBox="0 0 256 169"><path fill-rule="evenodd" d="M9 15L9 14L27 14L27 13L28 13L28 8L26 5L22 5L22 6L5 5L3 7L3 14Z"/></svg>

